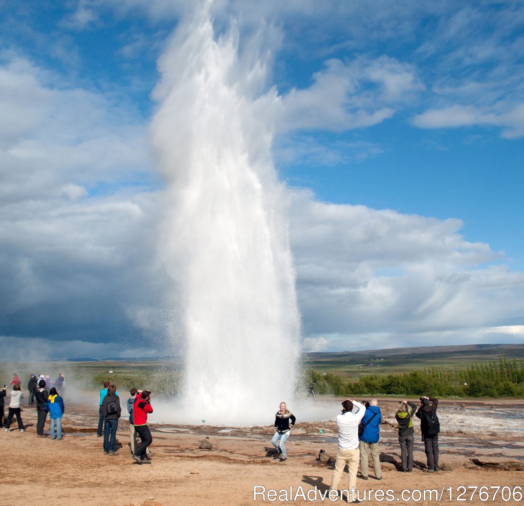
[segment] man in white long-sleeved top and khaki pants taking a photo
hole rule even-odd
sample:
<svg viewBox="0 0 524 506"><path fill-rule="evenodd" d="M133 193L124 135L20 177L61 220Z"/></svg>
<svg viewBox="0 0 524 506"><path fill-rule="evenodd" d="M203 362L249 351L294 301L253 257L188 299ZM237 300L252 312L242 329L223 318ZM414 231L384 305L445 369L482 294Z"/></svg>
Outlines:
<svg viewBox="0 0 524 506"><path fill-rule="evenodd" d="M358 449L358 424L366 413L363 404L346 399L342 401L342 414L336 416L336 425L339 428L339 451L336 453L335 470L331 478L330 490L337 490L339 481L347 464L349 471L348 502L360 502L356 496L356 482L360 452ZM353 413L355 411L355 413Z"/></svg>

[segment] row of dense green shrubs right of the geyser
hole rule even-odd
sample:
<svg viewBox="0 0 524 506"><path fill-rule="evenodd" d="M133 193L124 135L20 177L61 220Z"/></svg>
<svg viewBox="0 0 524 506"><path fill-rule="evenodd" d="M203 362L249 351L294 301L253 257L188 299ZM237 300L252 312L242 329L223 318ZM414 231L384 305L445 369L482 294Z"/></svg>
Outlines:
<svg viewBox="0 0 524 506"><path fill-rule="evenodd" d="M370 374L357 381L344 381L333 374L306 373L319 394L369 396L406 395L420 397L524 397L524 364L505 357L490 364L465 369L428 368L400 374Z"/></svg>

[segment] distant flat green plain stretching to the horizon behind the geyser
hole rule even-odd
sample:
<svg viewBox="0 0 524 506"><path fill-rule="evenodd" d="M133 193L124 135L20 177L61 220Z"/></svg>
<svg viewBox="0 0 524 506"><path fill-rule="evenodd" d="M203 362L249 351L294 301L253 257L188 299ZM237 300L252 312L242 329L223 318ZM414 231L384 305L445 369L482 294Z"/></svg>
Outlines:
<svg viewBox="0 0 524 506"><path fill-rule="evenodd" d="M493 362L499 357L524 358L524 345L468 345L419 348L395 348L383 350L310 353L304 354L305 368L319 373L331 373L344 381L357 381L371 374L388 374L423 370L430 367L441 369L465 369L472 364ZM68 384L85 390L100 388L108 380L118 389L131 387L150 388L155 393L171 394L177 391L182 364L178 361L63 361L38 363L0 362L0 382L8 384L13 373L18 373L22 386L27 387L29 375L49 374L55 380L64 373ZM108 372L108 371L113 372Z"/></svg>

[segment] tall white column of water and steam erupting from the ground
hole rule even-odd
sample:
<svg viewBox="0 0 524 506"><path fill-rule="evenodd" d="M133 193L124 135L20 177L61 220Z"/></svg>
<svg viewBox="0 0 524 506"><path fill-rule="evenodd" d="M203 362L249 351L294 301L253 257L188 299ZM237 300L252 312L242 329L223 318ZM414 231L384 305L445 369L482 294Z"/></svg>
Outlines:
<svg viewBox="0 0 524 506"><path fill-rule="evenodd" d="M159 61L152 137L167 183L162 256L180 309L187 421L271 421L296 388L300 317L288 198L271 158L265 63L215 39L208 8Z"/></svg>

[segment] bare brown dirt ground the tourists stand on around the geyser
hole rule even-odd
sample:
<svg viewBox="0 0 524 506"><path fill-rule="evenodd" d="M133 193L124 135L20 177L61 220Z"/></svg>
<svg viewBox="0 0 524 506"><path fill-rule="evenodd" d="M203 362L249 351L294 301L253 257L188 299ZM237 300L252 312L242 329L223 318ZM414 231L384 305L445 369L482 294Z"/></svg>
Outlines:
<svg viewBox="0 0 524 506"><path fill-rule="evenodd" d="M383 411L394 409L394 403L388 402L381 403ZM119 423L118 455L103 455L102 438L95 433L96 406L68 406L63 441L36 437L33 406L25 406L22 415L25 433L18 432L16 424L12 432L0 432L0 504L5 506L252 505L273 502L271 499L293 504L343 502L340 498L321 499L329 488L334 466L333 461L323 463L318 456L320 449L336 455L333 422L297 424L286 443L288 458L282 463L273 457L269 425L240 430L153 425L152 464L138 465L130 455L127 420ZM212 449L199 448L204 438L209 438ZM381 425L383 480L374 479L371 466L367 481L357 479L361 498L364 492L371 493L372 499L367 496L366 504L452 504L459 499L468 504L524 503L519 496L524 471L517 470L522 461L516 460L524 455L522 437L442 433L440 464L450 470L431 474L422 471L425 455L419 434L415 441L413 472L398 472L396 431L388 424ZM476 464L472 461L475 458L479 459ZM475 487L482 486L487 488L481 499ZM497 489L489 487L500 487L494 500ZM340 488L347 488L347 473ZM270 489L276 492L271 495ZM407 492L401 497L404 489ZM434 491L431 496L425 492L424 498L424 489ZM441 496L436 497L437 493ZM511 498L506 501L508 494Z"/></svg>

